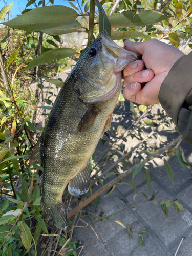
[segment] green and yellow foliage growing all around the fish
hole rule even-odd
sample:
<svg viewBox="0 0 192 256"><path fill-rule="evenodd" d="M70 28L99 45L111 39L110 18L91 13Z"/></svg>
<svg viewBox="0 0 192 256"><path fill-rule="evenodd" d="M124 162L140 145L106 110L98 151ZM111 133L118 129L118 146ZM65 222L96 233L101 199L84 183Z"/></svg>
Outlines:
<svg viewBox="0 0 192 256"><path fill-rule="evenodd" d="M39 203L42 186L42 167L29 166L29 155L36 139L41 133L48 113L57 96L57 87L62 86L62 81L54 79L55 75L66 66L75 64L83 47L63 46L61 35L75 31L88 33L88 45L104 29L111 34L112 39L120 40L130 38L132 41L142 41L151 38L169 40L175 47L180 45L180 40L191 37L190 17L192 7L189 0L178 1L129 1L116 2L83 0L69 2L71 8L66 6L45 6L45 0L31 0L27 3L22 15L8 20L13 3L4 6L0 12L1 24L1 48L0 48L0 185L1 185L1 211L0 211L0 254L1 255L37 255L37 246L45 244L41 255L50 248L59 253L65 251L65 255L76 255L78 242L71 242L72 231L58 231L53 228L53 223L42 216ZM33 8L28 8L30 6ZM153 9L153 10L152 10ZM90 23L94 17L94 23ZM14 30L12 29L14 28ZM191 45L189 45L191 47ZM49 86L44 86L44 81ZM31 83L35 84L33 90ZM51 91L55 84L54 93ZM43 90L47 89L46 95ZM119 97L122 105L124 98ZM89 167L92 171L93 184L103 185L109 178L115 177L102 187L92 201L99 203L99 195L105 190L107 197L113 193L116 184L131 185L136 194L139 193L134 177L145 167L147 179L147 193L150 189L150 173L147 163L155 157L164 159L167 174L174 182L174 171L168 159L177 156L182 167L190 168L186 162L182 148L181 136L172 142L163 142L159 133L175 129L173 121L164 111L158 107L154 112L154 106L137 106L130 102L132 124L124 127L120 124L117 129L111 127L109 133L102 138L105 148L101 156L94 155ZM145 132L148 133L145 136ZM127 139L136 138L138 144L128 150L125 146ZM158 143L152 143L151 138ZM108 164L108 168L105 165ZM112 171L112 172L111 172ZM130 183L123 183L123 177L132 174ZM169 179L168 178L168 179ZM92 193L92 188L90 189ZM157 191L154 191L151 201L155 200ZM146 196L147 197L147 196ZM63 200L71 206L74 201L77 206L69 212L73 216L79 209L84 196L70 199L67 191L63 194ZM106 198L107 200L107 198ZM91 201L85 199L83 205ZM176 212L183 207L177 200L162 199L161 209L168 216L168 207L173 205ZM77 218L77 217L76 217ZM75 220L76 220L75 218ZM98 218L99 219L99 218ZM132 230L128 226L116 221L123 228L127 228L129 236ZM73 222L70 220L70 224ZM53 232L54 231L54 232ZM139 233L138 240L144 245L143 234ZM54 252L54 254L55 254ZM53 255L54 255L53 254Z"/></svg>

